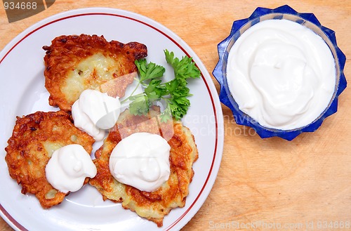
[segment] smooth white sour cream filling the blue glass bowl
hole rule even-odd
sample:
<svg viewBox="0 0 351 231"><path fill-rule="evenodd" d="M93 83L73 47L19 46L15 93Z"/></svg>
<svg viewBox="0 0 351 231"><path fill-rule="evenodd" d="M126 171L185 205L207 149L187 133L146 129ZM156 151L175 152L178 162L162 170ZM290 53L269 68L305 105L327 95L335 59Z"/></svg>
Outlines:
<svg viewBox="0 0 351 231"><path fill-rule="evenodd" d="M247 29L228 54L227 83L239 109L267 128L310 124L329 105L336 64L326 42L290 20Z"/></svg>

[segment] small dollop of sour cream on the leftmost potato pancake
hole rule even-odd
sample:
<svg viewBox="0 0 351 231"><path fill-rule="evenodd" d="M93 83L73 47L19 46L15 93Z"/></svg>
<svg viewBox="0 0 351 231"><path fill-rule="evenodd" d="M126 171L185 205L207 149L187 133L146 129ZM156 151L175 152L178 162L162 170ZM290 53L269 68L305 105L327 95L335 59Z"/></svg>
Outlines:
<svg viewBox="0 0 351 231"><path fill-rule="evenodd" d="M93 178L97 169L81 145L66 145L53 152L45 168L46 179L60 192L76 192L84 180Z"/></svg>

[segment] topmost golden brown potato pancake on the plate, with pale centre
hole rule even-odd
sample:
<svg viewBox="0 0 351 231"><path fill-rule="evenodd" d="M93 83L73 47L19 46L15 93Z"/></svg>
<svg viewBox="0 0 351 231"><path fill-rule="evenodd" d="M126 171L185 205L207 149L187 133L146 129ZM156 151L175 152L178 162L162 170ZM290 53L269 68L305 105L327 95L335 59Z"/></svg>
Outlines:
<svg viewBox="0 0 351 231"><path fill-rule="evenodd" d="M131 75L137 71L135 60L147 56L144 44L108 42L103 36L87 34L56 37L43 49L49 104L65 111L71 110L82 91L99 89L113 79L123 78L114 84L125 89L135 77ZM124 91L117 95L124 96Z"/></svg>

